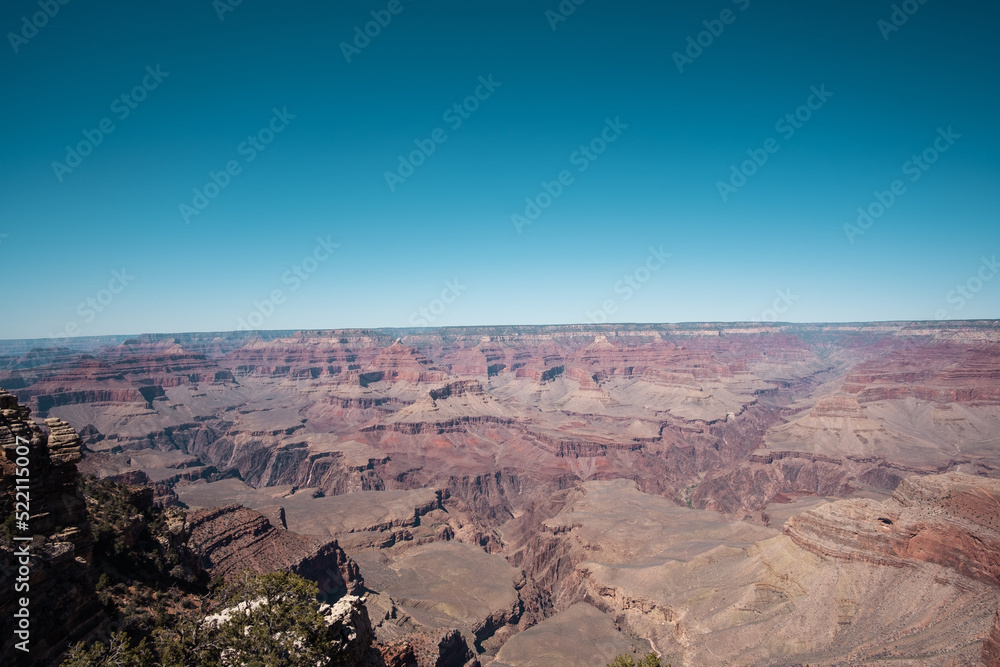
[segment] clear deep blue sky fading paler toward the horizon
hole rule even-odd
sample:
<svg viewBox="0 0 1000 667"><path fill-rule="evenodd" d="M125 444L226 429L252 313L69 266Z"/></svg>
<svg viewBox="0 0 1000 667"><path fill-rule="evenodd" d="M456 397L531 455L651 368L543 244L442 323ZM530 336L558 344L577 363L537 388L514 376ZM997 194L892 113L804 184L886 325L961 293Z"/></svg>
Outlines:
<svg viewBox="0 0 1000 667"><path fill-rule="evenodd" d="M0 338L1000 316L996 2L234 2L4 3Z"/></svg>

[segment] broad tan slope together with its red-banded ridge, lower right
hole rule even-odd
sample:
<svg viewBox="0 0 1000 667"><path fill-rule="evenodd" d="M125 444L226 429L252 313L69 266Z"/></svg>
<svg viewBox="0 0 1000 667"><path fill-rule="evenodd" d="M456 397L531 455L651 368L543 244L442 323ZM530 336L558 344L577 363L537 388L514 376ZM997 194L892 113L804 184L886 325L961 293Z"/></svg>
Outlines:
<svg viewBox="0 0 1000 667"><path fill-rule="evenodd" d="M994 487L921 478L781 534L588 482L515 562L552 582L557 609L587 602L675 664L978 664L1000 600Z"/></svg>

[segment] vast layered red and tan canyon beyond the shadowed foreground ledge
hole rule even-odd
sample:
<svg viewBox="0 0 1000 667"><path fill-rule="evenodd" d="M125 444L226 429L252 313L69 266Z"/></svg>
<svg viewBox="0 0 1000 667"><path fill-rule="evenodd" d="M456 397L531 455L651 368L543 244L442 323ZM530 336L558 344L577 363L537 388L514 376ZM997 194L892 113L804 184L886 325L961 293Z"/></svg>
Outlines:
<svg viewBox="0 0 1000 667"><path fill-rule="evenodd" d="M0 341L0 387L4 448L363 601L385 664L1000 664L997 321Z"/></svg>

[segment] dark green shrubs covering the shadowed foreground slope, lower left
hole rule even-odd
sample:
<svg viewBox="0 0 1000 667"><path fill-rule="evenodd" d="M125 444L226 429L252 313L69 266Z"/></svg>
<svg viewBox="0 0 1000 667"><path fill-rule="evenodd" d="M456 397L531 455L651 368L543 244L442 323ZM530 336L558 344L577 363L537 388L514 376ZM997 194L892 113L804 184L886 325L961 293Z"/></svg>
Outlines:
<svg viewBox="0 0 1000 667"><path fill-rule="evenodd" d="M83 492L112 634L73 646L64 667L337 664L316 584L287 572L209 581L170 532L183 516L149 489L89 477Z"/></svg>

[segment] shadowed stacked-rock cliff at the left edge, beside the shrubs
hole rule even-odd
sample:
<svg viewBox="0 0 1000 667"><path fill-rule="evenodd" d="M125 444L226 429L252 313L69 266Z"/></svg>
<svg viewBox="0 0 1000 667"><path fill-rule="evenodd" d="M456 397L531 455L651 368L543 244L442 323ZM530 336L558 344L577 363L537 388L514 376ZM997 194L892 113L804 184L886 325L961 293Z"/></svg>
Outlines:
<svg viewBox="0 0 1000 667"><path fill-rule="evenodd" d="M31 508L30 531L12 525L11 535L32 536L30 542L0 538L0 629L3 662L10 665L51 664L69 643L95 634L106 621L94 589L93 537L77 489L79 438L61 420L46 420L46 426L49 433L0 389L0 508L5 519L26 497ZM17 492L17 480L23 479L16 474L19 468L27 468L27 495ZM28 559L19 555L25 546ZM14 593L15 583L28 588ZM14 648L14 614L22 597L30 601L27 653Z"/></svg>

